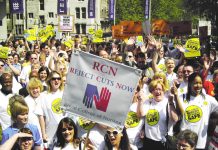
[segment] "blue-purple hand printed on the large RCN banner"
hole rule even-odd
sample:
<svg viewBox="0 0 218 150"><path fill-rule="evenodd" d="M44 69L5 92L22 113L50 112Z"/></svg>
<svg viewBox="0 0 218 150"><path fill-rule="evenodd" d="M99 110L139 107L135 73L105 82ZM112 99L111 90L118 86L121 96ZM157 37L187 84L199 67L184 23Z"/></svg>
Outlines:
<svg viewBox="0 0 218 150"><path fill-rule="evenodd" d="M93 103L93 95L97 94L98 90L96 86L93 86L91 84L87 84L85 95L83 97L83 104L87 108L92 108Z"/></svg>

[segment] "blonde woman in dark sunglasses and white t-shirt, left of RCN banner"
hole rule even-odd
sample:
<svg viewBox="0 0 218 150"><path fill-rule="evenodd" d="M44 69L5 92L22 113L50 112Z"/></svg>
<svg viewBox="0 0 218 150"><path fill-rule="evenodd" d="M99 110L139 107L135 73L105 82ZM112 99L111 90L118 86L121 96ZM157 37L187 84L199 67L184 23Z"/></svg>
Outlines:
<svg viewBox="0 0 218 150"><path fill-rule="evenodd" d="M42 138L51 143L58 123L64 117L60 108L63 95L63 81L59 72L53 71L47 80L48 91L42 93L42 99L37 103L35 114L39 116Z"/></svg>

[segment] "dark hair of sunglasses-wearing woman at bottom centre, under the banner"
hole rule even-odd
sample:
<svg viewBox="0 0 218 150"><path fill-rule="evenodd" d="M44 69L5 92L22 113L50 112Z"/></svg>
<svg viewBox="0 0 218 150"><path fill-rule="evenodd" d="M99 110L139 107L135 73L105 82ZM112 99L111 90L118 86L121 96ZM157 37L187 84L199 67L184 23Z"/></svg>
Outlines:
<svg viewBox="0 0 218 150"><path fill-rule="evenodd" d="M130 150L131 148L130 148L130 143L129 143L129 137L126 133L126 128L123 128L122 134L123 136L121 137L119 149L120 150ZM112 150L113 146L107 134L104 136L104 141L105 141L105 146L108 148L108 150Z"/></svg>

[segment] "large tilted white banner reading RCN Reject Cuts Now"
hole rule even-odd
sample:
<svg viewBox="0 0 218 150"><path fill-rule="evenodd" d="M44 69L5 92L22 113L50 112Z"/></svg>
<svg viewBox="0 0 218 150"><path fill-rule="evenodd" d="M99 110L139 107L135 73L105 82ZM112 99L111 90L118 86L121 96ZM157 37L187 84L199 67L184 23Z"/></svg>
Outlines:
<svg viewBox="0 0 218 150"><path fill-rule="evenodd" d="M140 70L89 53L72 53L62 107L94 122L123 128L140 75Z"/></svg>

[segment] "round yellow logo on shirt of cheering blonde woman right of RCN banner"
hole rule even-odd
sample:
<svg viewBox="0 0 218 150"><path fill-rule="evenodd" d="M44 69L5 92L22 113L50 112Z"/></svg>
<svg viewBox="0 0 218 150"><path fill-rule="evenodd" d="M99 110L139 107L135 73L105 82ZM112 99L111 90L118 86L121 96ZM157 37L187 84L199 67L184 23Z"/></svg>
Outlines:
<svg viewBox="0 0 218 150"><path fill-rule="evenodd" d="M148 110L148 113L146 115L146 121L148 125L150 126L156 125L159 122L159 119L160 119L160 115L156 109Z"/></svg>

